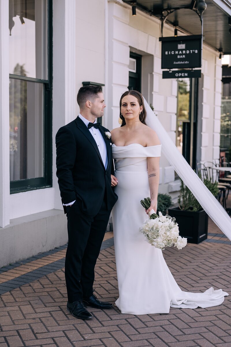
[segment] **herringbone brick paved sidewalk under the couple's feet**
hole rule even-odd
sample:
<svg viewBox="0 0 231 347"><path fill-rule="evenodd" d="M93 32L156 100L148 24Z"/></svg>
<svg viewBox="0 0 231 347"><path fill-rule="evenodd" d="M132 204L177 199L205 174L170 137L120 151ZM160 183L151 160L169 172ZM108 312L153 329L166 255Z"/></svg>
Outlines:
<svg viewBox="0 0 231 347"><path fill-rule="evenodd" d="M219 243L222 236L212 222L209 232L210 238L199 245L188 244L180 252L166 249L165 260L183 290L213 286L231 294L230 242ZM106 233L97 260L95 292L114 304L118 287L112 236ZM60 247L1 269L0 347L231 346L231 296L221 306L205 309L170 308L170 314L134 316L113 306L89 308L94 316L89 321L75 319L66 312L64 253Z"/></svg>

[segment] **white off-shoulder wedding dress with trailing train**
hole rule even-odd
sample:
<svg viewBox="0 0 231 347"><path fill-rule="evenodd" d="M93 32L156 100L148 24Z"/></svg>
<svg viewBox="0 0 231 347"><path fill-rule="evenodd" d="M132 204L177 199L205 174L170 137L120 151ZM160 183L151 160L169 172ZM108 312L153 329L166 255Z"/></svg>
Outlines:
<svg viewBox="0 0 231 347"><path fill-rule="evenodd" d="M222 304L228 293L212 287L204 293L182 291L174 280L162 251L148 244L139 227L147 219L140 200L150 196L147 157L161 155L161 145L143 147L112 145L115 193L112 210L115 261L119 298L115 305L122 313L169 313L177 308L212 307ZM186 246L187 247L187 246Z"/></svg>

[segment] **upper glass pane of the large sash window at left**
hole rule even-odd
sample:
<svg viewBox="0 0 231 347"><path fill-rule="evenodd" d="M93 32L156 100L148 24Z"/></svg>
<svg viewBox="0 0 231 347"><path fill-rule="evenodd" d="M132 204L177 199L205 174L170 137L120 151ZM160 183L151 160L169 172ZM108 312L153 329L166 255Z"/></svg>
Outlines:
<svg viewBox="0 0 231 347"><path fill-rule="evenodd" d="M47 0L9 0L9 73L47 79Z"/></svg>

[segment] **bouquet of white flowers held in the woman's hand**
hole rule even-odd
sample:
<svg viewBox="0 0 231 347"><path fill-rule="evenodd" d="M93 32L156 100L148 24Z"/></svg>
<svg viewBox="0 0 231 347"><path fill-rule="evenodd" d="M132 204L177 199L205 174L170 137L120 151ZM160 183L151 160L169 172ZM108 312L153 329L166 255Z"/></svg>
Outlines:
<svg viewBox="0 0 231 347"><path fill-rule="evenodd" d="M151 200L147 197L141 200L140 203L147 210L150 207ZM173 245L178 249L182 249L187 244L187 238L179 235L176 219L169 215L163 216L161 212L158 216L154 210L149 212L149 218L139 228L139 231L144 234L148 243L163 250L165 247Z"/></svg>

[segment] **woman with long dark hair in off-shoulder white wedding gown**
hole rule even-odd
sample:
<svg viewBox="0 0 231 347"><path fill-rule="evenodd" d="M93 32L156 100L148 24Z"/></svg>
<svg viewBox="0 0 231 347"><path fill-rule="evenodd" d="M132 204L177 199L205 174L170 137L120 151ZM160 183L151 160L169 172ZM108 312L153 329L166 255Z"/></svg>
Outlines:
<svg viewBox="0 0 231 347"><path fill-rule="evenodd" d="M169 313L178 308L211 307L222 304L228 293L212 287L204 293L182 291L165 263L161 249L139 232L149 211L157 208L161 144L155 131L146 125L143 96L127 91L120 99L121 127L113 129L112 152L115 176L112 186L118 201L112 210L115 261L119 298L115 305L122 313ZM151 197L145 211L140 200Z"/></svg>

